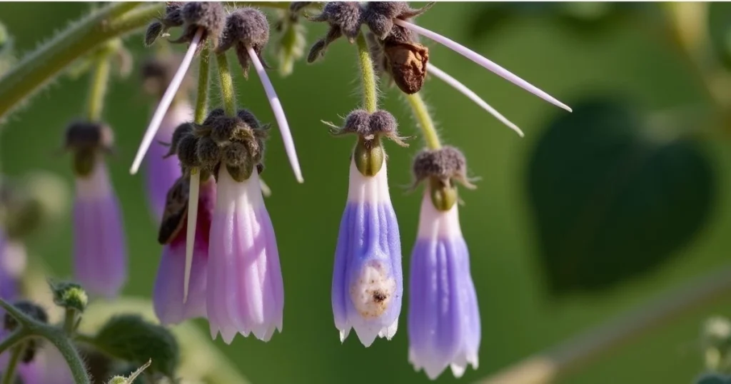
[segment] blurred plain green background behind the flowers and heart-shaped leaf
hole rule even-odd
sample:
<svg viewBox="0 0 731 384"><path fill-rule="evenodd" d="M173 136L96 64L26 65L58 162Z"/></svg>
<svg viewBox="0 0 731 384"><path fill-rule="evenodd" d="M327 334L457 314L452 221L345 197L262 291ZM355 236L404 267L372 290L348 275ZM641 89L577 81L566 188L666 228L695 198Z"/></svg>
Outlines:
<svg viewBox="0 0 731 384"><path fill-rule="evenodd" d="M24 53L86 12L87 4L2 3L0 22ZM419 18L421 25L488 56L493 61L572 105L581 97L618 94L648 110L708 105L702 84L681 55L648 23L619 18L600 30L567 26L537 13L501 23L482 21L488 34L475 36L475 15L485 4L443 3ZM488 25L490 23L490 25ZM478 28L479 29L479 28ZM591 31L591 33L588 33ZM325 27L308 23L308 44ZM175 36L175 32L173 32ZM640 306L656 295L727 265L731 248L731 187L728 138L704 134L702 151L711 162L716 197L710 216L692 236L675 247L667 263L647 274L596 292L551 295L543 273L541 243L530 201L529 164L550 121L565 112L512 86L446 48L428 43L433 64L468 84L477 94L526 132L526 138L501 126L488 113L448 88L429 80L423 96L439 124L444 142L461 148L479 189L461 194L464 236L480 300L482 345L480 369L461 380L473 382L520 359L601 324L608 317ZM143 49L140 35L126 39L139 63L153 50ZM270 61L274 56L269 52ZM273 189L266 200L279 239L286 305L284 333L268 343L237 337L232 345L216 341L232 363L253 383L422 383L406 359L406 302L401 328L391 342L363 348L355 336L338 340L330 309L330 281L344 208L351 140L330 137L320 120L339 121L360 102L355 46L338 40L324 61L295 64L288 78L273 83L297 143L305 184L292 177L278 132L269 141L265 181ZM113 80L105 117L115 129L118 154L109 161L113 184L124 207L131 276L125 293L149 296L159 260L156 225L143 194L143 176L129 176L129 165L155 102L140 89L137 72ZM238 101L263 121L273 121L256 75L236 78ZM3 127L2 170L20 176L49 170L73 187L69 157L58 155L66 124L83 113L86 76L61 77L39 92L27 108ZM400 121L404 135L418 135L410 111L397 89L384 88L383 108ZM215 92L212 105L216 105ZM694 128L702 129L699 119ZM420 193L403 186L412 181L410 159L419 149L387 145L393 203L398 214L404 271L416 235ZM672 208L672 207L670 207ZM628 220L632 220L629 217ZM57 276L70 275L72 227L68 216L29 241ZM621 255L618 255L621 257ZM406 274L405 274L406 275ZM708 315L731 315L731 298L721 298L651 332L562 378L559 383L690 383L702 370L697 342ZM207 323L200 321L206 331ZM453 383L450 373L440 383Z"/></svg>

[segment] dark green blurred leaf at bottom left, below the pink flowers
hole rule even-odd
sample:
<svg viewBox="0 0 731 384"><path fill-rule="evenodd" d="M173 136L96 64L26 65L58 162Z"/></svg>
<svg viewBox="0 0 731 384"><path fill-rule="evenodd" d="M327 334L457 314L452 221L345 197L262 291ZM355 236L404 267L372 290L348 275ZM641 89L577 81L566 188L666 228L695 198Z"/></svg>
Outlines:
<svg viewBox="0 0 731 384"><path fill-rule="evenodd" d="M167 328L140 315L110 318L94 336L94 347L115 358L142 366L152 359L151 373L173 378L180 361L178 342Z"/></svg>

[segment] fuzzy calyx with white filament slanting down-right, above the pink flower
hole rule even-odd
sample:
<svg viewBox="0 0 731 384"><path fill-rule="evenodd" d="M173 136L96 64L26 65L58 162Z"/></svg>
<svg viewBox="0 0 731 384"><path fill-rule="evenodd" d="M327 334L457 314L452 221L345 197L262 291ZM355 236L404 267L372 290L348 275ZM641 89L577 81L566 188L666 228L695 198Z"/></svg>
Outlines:
<svg viewBox="0 0 731 384"><path fill-rule="evenodd" d="M230 48L234 48L238 62L243 69L243 75L246 78L249 77L249 61L254 64L254 69L256 69L262 86L264 86L269 105L274 113L274 118L276 118L281 140L284 142L284 151L287 152L287 158L289 158L289 165L291 165L297 181L303 183L300 160L297 157L292 132L289 130L287 116L284 116L284 109L267 75L265 64L263 64L262 50L264 50L268 41L269 21L266 15L254 8L240 8L228 15L221 46L217 52L223 53Z"/></svg>

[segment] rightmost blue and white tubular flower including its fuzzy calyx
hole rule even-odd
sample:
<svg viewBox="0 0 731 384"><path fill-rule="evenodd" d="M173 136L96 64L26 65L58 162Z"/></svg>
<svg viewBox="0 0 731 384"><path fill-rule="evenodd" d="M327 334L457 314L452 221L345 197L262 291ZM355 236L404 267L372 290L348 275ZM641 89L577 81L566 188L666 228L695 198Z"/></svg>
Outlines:
<svg viewBox="0 0 731 384"><path fill-rule="evenodd" d="M414 160L417 182L426 182L409 276L409 361L432 380L447 366L461 377L479 363L480 310L453 185L471 187L465 165L451 147Z"/></svg>

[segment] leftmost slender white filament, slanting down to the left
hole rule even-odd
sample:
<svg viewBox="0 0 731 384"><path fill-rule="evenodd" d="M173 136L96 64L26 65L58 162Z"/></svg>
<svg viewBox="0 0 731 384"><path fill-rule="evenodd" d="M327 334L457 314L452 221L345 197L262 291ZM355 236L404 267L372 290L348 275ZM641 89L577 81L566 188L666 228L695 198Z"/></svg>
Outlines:
<svg viewBox="0 0 731 384"><path fill-rule="evenodd" d="M193 61L193 56L195 54L195 51L198 48L198 44L200 43L200 37L202 37L202 35L203 35L203 29L198 29L198 31L195 33L195 36L193 37L192 41L190 42L190 46L188 47L188 52L186 52L185 57L183 57L183 62L181 62L181 66L178 67L178 72L175 72L175 76L173 76L173 80L170 81L170 85L167 86L165 93L162 95L162 99L160 99L160 103L157 105L157 109L155 110L155 113L152 115L152 120L150 121L150 125L147 126L145 135L142 138L142 143L140 143L140 148L137 149L137 154L135 155L135 162L132 162L132 167L129 168L129 173L132 173L132 175L137 173L137 170L140 170L140 165L142 165L142 160L145 158L145 154L147 153L147 150L150 148L150 145L152 144L152 140L154 140L154 138L155 138L157 129L159 129L160 123L162 123L162 118L164 118L165 113L167 112L167 108L170 108L170 104L173 102L175 93L178 92L178 88L180 88L181 83L183 83L183 78L185 78L185 74L186 74L186 72L188 72L188 67L190 67L190 63Z"/></svg>

